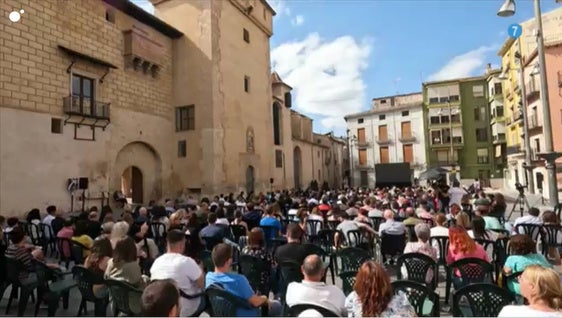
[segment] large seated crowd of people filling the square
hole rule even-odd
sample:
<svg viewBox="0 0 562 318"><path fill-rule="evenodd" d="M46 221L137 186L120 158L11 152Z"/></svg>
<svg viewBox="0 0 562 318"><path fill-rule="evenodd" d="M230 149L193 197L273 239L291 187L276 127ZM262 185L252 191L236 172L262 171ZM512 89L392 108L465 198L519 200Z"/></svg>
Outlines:
<svg viewBox="0 0 562 318"><path fill-rule="evenodd" d="M473 185L473 188L474 185ZM479 187L478 187L479 188ZM247 301L237 316L258 316L259 308L268 307L268 315L280 316L283 306L315 305L337 316L416 316L407 295L394 293L387 267L381 260L368 260L357 270L353 291L326 283L326 264L315 253L310 238L324 228L333 228L331 251L362 246L385 235L407 238L402 253L422 253L446 264L465 258L492 262L495 255L480 242L509 240L510 254L502 264L509 275L523 273L507 288L524 297L528 305L506 306L500 316L561 316L560 278L552 268L560 260L556 247L537 253L537 238L519 231L519 225L560 225L552 211L536 208L514 222L505 220L507 205L501 193L493 196L482 190L472 194L453 182L433 187L345 189L333 191L277 191L267 194L241 193L219 195L199 201L191 197L165 200L163 205L129 207L116 200L114 207L69 217L49 206L41 218L38 209L24 219L0 216L2 258L21 262L20 279L35 277L32 260L44 262L53 270L65 266L51 263L45 254L53 252L48 244L67 239L83 247L83 266L104 279L119 280L143 291L142 298L131 298L133 312L147 316L192 316L209 308L203 292L220 288ZM233 235L237 229L238 235ZM364 234L359 242L352 231ZM446 255L436 237L447 237ZM282 243L271 249L267 242ZM365 241L363 241L365 240ZM562 234L557 240L562 243ZM368 244L367 244L368 245ZM213 268L201 255L208 251ZM71 258L70 247L57 251ZM236 255L263 260L259 286L251 286L247 277L233 271ZM280 264L301 266L301 282L283 286ZM234 264L235 265L235 264ZM407 271L398 269L407 279ZM4 272L0 269L0 273ZM428 271L429 284L439 273ZM454 275L455 286L462 277ZM2 279L4 281L4 279ZM104 284L94 287L100 298L110 295ZM96 315L105 308L96 307ZM318 316L316 310L302 316ZM320 315L321 316L321 315Z"/></svg>

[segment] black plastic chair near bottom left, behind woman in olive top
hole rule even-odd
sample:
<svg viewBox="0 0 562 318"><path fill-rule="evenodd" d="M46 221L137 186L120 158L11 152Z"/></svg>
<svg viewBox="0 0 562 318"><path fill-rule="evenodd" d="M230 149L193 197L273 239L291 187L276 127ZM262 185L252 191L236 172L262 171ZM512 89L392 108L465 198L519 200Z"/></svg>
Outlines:
<svg viewBox="0 0 562 318"><path fill-rule="evenodd" d="M131 298L136 299L136 297L138 297L140 304L142 296L141 289L138 289L124 281L114 279L106 280L105 285L109 288L109 299L114 317L117 317L119 314L124 314L127 317L140 315L140 312L135 312L133 308L131 308L130 300Z"/></svg>

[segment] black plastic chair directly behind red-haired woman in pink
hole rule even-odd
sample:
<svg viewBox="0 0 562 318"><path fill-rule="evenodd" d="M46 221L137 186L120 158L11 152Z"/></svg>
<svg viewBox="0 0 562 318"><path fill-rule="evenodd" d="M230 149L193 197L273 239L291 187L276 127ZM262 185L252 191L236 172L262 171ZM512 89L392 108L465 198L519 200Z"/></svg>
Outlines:
<svg viewBox="0 0 562 318"><path fill-rule="evenodd" d="M460 277L455 275L456 270L460 272ZM448 304L451 293L451 285L455 290L466 285L478 283L491 283L494 267L492 264L479 258L463 258L447 266L447 282L445 284L445 304ZM456 282L453 281L455 278Z"/></svg>

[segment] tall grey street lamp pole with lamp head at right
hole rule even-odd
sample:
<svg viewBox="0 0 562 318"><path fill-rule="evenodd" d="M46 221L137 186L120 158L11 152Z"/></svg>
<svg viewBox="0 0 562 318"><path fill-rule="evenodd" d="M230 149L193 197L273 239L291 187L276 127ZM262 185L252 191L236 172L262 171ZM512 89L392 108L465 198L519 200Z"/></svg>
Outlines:
<svg viewBox="0 0 562 318"><path fill-rule="evenodd" d="M549 183L549 198L551 205L558 204L558 185L556 180L556 159L562 154L554 152L552 143L552 125L550 118L550 105L548 100L548 85L546 76L546 58L544 55L544 38L542 28L542 15L540 0L533 0L535 8L535 20L537 21L537 53L539 58L540 67L540 81L541 81L541 104L543 113L543 135L545 151L540 154L546 161L546 170L548 174ZM515 0L506 0L498 11L498 16L509 17L515 14Z"/></svg>

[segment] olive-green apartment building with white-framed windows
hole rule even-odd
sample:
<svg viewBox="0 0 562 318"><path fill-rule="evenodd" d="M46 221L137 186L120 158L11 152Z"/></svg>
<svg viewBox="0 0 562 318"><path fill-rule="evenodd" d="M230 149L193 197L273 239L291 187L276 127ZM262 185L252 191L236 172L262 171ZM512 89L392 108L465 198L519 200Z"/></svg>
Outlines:
<svg viewBox="0 0 562 318"><path fill-rule="evenodd" d="M449 180L485 185L495 171L486 92L486 76L423 83L428 165Z"/></svg>

